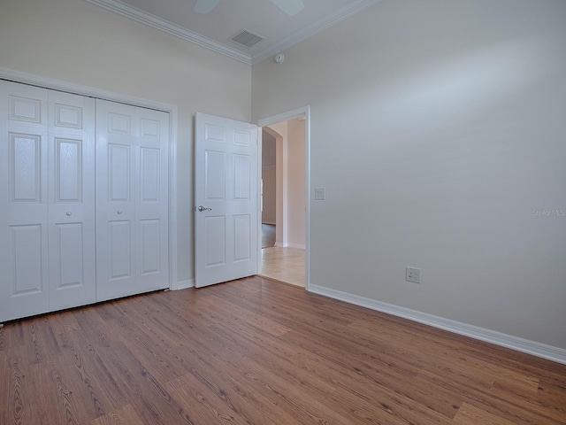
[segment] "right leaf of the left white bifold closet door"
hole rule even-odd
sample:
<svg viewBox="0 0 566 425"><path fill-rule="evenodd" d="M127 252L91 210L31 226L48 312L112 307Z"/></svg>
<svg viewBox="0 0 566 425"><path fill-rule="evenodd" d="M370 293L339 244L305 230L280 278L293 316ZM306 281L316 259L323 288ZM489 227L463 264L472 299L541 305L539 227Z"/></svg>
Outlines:
<svg viewBox="0 0 566 425"><path fill-rule="evenodd" d="M49 92L50 310L96 302L95 99Z"/></svg>

